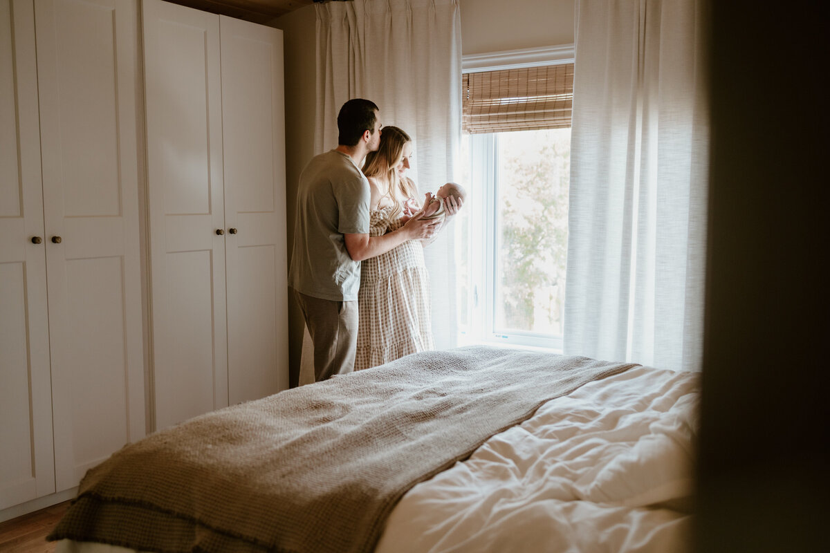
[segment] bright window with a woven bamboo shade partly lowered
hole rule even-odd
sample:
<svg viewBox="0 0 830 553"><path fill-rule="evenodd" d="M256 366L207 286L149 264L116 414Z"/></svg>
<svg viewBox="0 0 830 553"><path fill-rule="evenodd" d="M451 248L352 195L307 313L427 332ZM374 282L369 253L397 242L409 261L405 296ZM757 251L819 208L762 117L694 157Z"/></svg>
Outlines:
<svg viewBox="0 0 830 553"><path fill-rule="evenodd" d="M462 343L562 348L573 67L464 75Z"/></svg>

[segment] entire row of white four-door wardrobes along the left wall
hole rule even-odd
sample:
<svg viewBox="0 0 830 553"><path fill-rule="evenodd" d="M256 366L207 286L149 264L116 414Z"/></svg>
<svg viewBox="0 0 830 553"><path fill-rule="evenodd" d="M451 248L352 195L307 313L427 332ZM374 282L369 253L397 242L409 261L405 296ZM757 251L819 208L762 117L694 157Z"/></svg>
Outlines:
<svg viewBox="0 0 830 553"><path fill-rule="evenodd" d="M282 33L0 0L0 117L2 521L288 387Z"/></svg>

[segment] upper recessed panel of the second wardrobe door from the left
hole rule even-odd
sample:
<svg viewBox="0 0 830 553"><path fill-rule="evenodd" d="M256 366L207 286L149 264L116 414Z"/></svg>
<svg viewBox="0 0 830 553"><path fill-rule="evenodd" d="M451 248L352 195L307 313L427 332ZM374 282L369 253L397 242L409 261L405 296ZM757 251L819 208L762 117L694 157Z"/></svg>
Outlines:
<svg viewBox="0 0 830 553"><path fill-rule="evenodd" d="M115 3L38 0L38 38L51 49L46 121L56 135L64 217L120 216ZM122 4L124 2L121 2ZM129 9L124 7L123 9ZM41 33L41 29L44 32ZM42 34L42 36L41 36ZM50 182L50 184L55 184Z"/></svg>

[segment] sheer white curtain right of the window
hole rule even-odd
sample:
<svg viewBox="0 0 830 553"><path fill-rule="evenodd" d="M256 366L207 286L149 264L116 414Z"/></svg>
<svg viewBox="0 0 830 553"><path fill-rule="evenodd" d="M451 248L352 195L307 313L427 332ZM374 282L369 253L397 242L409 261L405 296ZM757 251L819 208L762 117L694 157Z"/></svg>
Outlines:
<svg viewBox="0 0 830 553"><path fill-rule="evenodd" d="M699 370L701 2L578 0L564 352Z"/></svg>

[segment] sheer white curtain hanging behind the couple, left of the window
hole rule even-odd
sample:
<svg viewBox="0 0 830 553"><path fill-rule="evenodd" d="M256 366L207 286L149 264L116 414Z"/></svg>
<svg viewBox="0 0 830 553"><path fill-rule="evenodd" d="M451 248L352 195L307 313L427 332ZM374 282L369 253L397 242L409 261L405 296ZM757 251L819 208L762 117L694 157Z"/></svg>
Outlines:
<svg viewBox="0 0 830 553"><path fill-rule="evenodd" d="M315 153L337 146L337 112L351 98L380 108L381 122L413 138L410 170L421 192L455 180L461 139L461 15L458 0L354 0L315 5ZM424 250L432 281L435 347L457 343L452 229ZM309 338L300 382L308 381Z"/></svg>

